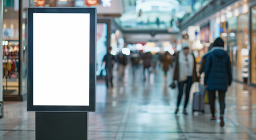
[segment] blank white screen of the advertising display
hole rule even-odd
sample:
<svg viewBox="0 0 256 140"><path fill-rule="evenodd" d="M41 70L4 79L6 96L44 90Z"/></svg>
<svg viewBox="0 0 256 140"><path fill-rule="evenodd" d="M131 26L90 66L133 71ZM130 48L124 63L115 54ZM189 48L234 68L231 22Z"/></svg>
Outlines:
<svg viewBox="0 0 256 140"><path fill-rule="evenodd" d="M33 105L89 106L89 13L33 13Z"/></svg>

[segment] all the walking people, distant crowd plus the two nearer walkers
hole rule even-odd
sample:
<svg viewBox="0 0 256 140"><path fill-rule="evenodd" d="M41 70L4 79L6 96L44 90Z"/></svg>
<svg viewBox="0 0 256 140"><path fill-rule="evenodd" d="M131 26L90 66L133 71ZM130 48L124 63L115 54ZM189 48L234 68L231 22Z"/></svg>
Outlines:
<svg viewBox="0 0 256 140"><path fill-rule="evenodd" d="M204 73L204 84L198 84L199 92L193 94L193 113L194 111L204 111L203 100L209 100L211 109L211 121L215 121L215 99L218 93L220 103L220 125L224 126L225 93L228 86L231 85L231 64L230 56L224 50L224 41L218 37L204 54L200 70L197 72L196 58L190 50L190 45L186 41L181 44L181 50L171 55L168 51L160 53L143 53L143 51L131 51L130 55L123 54L120 51L117 55L110 54L111 48L107 49L107 54L103 58L106 69L106 86L113 88L113 66L117 64L119 81L124 79L124 70L129 64L132 67L133 78L140 76L144 81L150 79L150 73L156 72L156 67L161 67L164 72L166 82L167 73L171 74L173 82L170 88L178 90L177 107L174 111L178 113L183 94L185 95L183 114L187 115L187 104L190 98L191 86L194 82L200 81L200 75ZM173 71L170 71L173 68ZM170 72L169 72L170 71ZM110 85L109 85L110 83ZM176 86L177 85L177 86ZM207 96L206 96L207 95Z"/></svg>

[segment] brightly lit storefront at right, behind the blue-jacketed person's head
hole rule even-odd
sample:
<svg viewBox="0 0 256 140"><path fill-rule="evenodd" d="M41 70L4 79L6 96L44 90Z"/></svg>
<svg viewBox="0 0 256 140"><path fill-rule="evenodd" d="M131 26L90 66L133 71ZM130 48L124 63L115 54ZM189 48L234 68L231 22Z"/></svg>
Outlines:
<svg viewBox="0 0 256 140"><path fill-rule="evenodd" d="M220 10L213 19L210 19L212 20L210 23L215 24L216 29L215 33L212 33L215 34L212 40L216 37L223 38L224 48L230 55L233 79L242 83L250 83L249 76L251 75L249 19L248 3L240 1Z"/></svg>

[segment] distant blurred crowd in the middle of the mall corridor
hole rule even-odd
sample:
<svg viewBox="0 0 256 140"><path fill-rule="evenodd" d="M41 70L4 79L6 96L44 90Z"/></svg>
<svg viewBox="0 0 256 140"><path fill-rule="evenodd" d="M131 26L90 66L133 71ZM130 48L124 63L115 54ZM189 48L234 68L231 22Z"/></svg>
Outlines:
<svg viewBox="0 0 256 140"><path fill-rule="evenodd" d="M117 55L110 54L111 48L108 48L107 54L103 57L103 64L106 69L106 85L109 88L109 83L113 87L113 67L117 65L118 79L123 80L124 71L129 65L132 67L133 78L138 75L142 75L144 81L149 79L150 73L156 72L156 67L162 67L164 71L164 78L167 78L167 72L173 65L174 55L171 55L168 51L165 53L151 53L143 51L130 51L130 55L123 54L120 51Z"/></svg>

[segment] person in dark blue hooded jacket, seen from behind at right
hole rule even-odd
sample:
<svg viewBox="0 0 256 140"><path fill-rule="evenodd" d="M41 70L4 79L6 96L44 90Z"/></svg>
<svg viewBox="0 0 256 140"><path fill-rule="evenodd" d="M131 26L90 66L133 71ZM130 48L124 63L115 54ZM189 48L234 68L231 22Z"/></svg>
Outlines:
<svg viewBox="0 0 256 140"><path fill-rule="evenodd" d="M224 50L224 41L218 37L206 58L204 85L206 85L210 97L211 120L215 120L215 92L218 90L221 127L224 126L225 92L231 85L231 81L230 56Z"/></svg>

